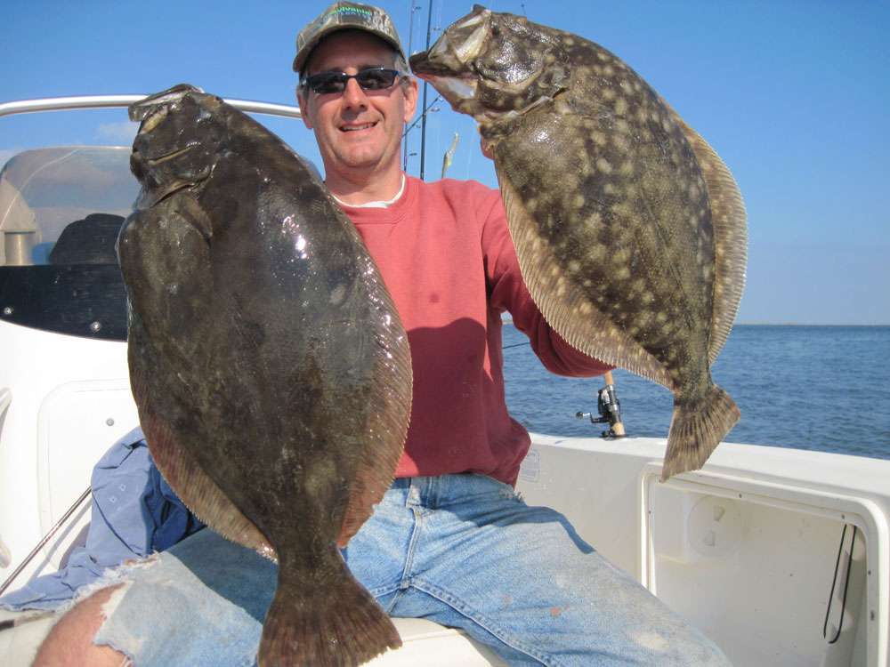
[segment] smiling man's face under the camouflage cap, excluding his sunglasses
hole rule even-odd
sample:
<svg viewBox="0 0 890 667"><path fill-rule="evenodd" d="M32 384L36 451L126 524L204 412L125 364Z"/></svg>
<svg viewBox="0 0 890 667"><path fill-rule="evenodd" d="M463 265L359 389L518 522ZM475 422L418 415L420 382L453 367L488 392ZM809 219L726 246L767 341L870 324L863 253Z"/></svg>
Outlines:
<svg viewBox="0 0 890 667"><path fill-rule="evenodd" d="M358 30L336 32L312 52L307 75L355 74L360 69L393 67L394 53L375 36ZM363 90L349 79L344 92L320 94L305 89L299 96L303 122L315 131L326 172L348 174L399 164L404 124L417 107L417 80L403 87Z"/></svg>

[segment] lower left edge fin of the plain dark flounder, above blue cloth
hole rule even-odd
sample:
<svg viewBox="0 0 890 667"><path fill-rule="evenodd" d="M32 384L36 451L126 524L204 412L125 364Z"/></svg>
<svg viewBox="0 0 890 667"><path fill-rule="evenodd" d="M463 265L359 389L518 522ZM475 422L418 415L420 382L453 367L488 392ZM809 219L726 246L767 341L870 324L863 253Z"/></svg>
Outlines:
<svg viewBox="0 0 890 667"><path fill-rule="evenodd" d="M134 350L132 341L130 350ZM151 392L143 380L142 364L136 357L133 352L129 354L130 383L136 398L139 422L151 458L167 484L185 506L214 531L276 560L275 550L259 528L223 494L188 449L182 446L170 424L155 413Z"/></svg>

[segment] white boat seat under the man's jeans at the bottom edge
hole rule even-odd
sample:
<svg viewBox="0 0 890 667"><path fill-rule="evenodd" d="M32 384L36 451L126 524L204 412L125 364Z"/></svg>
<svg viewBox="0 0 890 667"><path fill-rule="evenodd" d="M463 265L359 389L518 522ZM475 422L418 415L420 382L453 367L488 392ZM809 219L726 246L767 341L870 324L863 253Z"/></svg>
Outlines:
<svg viewBox="0 0 890 667"><path fill-rule="evenodd" d="M0 609L0 623L30 612L9 612ZM488 647L481 645L465 632L445 628L422 618L393 618L399 631L402 647L377 656L366 663L368 667L490 667L506 665ZM27 667L34 659L37 647L53 625L53 617L0 631L0 663L5 667Z"/></svg>

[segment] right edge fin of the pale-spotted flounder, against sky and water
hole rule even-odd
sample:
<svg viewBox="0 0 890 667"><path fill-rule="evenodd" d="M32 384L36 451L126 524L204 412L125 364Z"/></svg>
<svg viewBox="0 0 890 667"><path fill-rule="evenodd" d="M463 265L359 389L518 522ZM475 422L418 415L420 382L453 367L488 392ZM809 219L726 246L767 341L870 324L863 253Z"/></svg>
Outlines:
<svg viewBox="0 0 890 667"><path fill-rule="evenodd" d="M667 105L667 102L666 102ZM708 341L708 365L713 364L729 337L745 288L748 262L748 222L739 186L724 161L668 105L699 162L708 189L714 225L714 313Z"/></svg>

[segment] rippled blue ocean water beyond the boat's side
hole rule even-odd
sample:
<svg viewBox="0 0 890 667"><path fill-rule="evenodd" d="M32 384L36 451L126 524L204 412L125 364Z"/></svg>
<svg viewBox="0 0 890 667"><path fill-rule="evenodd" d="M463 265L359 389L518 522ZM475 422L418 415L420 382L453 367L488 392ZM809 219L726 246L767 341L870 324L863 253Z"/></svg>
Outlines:
<svg viewBox="0 0 890 667"><path fill-rule="evenodd" d="M514 325L504 326L506 402L531 431L596 437L602 378L548 373ZM711 367L741 411L725 442L890 459L890 326L735 325ZM667 438L670 391L612 372L628 435Z"/></svg>

